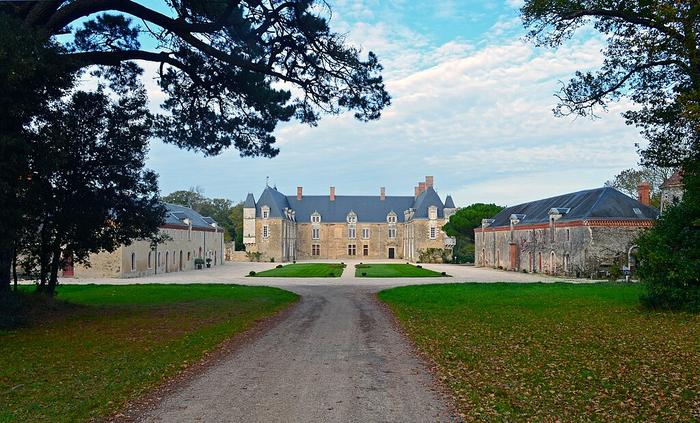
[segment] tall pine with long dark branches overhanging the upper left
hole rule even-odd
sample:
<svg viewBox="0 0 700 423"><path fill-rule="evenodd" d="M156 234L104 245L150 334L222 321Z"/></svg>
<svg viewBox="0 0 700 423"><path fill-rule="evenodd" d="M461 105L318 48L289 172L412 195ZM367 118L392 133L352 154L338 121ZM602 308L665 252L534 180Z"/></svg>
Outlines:
<svg viewBox="0 0 700 423"><path fill-rule="evenodd" d="M24 169L15 164L24 148L18 134L46 94L64 88L57 80L72 81L89 69L120 93L142 74L135 61L157 64L165 101L164 113L155 117L156 135L205 154L233 146L243 156L273 157L278 150L272 134L280 121L314 125L323 113L343 111L367 121L378 119L390 103L377 57L369 52L361 58L343 35L330 31L323 2L161 3L153 8L131 0L0 3L2 105L14 100L28 105L12 106L19 112L4 112L0 122L0 290L9 289L22 214L14 207ZM144 48L144 40L153 47Z"/></svg>

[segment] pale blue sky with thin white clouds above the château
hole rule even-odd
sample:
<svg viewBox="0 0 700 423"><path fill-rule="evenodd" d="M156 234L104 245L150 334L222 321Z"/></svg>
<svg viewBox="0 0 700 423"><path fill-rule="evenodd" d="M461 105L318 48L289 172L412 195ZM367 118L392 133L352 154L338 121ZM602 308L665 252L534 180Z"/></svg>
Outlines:
<svg viewBox="0 0 700 423"><path fill-rule="evenodd" d="M392 105L379 121L352 113L316 127L285 123L277 157L217 157L154 140L148 167L163 194L199 186L209 197L257 198L270 185L293 195L413 195L426 175L458 207L514 205L596 188L638 162L640 136L614 103L600 118L557 118L554 93L602 61L603 41L582 32L557 50L524 39L519 0L329 0L331 28L373 51ZM146 66L152 107L162 95Z"/></svg>

